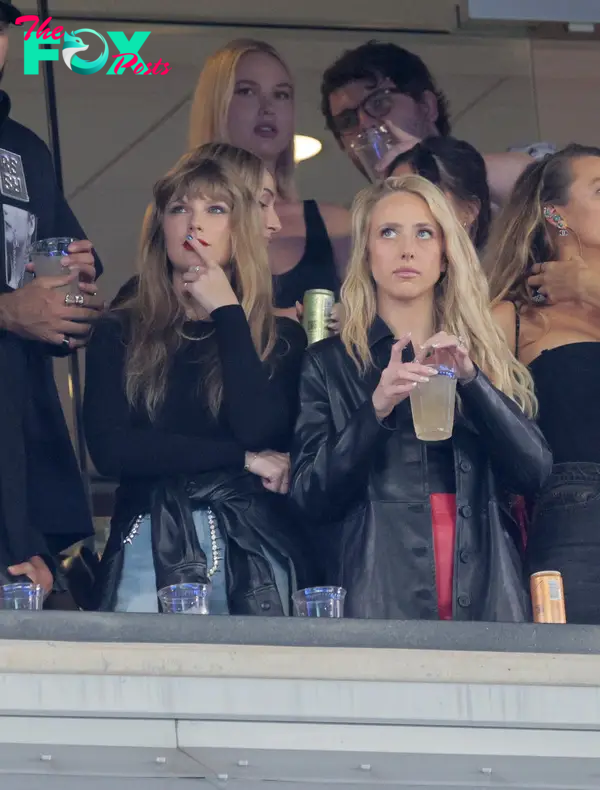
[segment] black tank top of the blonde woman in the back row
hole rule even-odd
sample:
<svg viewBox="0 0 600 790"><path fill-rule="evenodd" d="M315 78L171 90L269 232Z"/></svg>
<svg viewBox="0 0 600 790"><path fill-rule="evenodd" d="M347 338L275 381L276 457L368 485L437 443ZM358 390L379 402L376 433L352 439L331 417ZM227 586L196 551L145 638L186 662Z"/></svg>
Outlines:
<svg viewBox="0 0 600 790"><path fill-rule="evenodd" d="M273 275L275 307L294 307L311 288L326 288L338 297L340 281L333 247L315 200L304 201L304 222L306 243L302 258L288 272Z"/></svg>

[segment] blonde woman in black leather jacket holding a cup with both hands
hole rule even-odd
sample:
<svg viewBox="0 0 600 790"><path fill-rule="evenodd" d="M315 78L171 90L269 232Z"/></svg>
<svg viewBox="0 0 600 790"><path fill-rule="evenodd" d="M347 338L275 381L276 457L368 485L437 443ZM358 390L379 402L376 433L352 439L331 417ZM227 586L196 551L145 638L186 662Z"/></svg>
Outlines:
<svg viewBox="0 0 600 790"><path fill-rule="evenodd" d="M552 459L488 301L437 187L411 175L357 196L348 320L305 356L291 485L346 616L529 616L509 497L535 495ZM417 438L418 397L440 441Z"/></svg>

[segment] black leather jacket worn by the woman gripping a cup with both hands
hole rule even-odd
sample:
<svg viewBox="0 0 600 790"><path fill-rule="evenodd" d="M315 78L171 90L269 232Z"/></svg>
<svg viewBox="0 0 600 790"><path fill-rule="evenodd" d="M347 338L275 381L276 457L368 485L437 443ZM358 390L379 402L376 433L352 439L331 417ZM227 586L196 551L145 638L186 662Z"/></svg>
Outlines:
<svg viewBox="0 0 600 790"><path fill-rule="evenodd" d="M364 378L339 338L307 351L291 496L316 533L327 583L347 590L346 616L436 619L426 444L408 400L377 420L371 395L392 344L379 318L369 342L376 366ZM528 620L510 494L535 496L552 456L535 423L481 371L458 394L453 617Z"/></svg>

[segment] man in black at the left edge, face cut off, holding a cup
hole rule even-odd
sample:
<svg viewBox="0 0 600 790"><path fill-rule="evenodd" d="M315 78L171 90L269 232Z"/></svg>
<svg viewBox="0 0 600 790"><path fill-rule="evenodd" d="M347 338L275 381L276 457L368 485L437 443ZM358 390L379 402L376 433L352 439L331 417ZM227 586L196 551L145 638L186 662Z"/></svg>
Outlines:
<svg viewBox="0 0 600 790"><path fill-rule="evenodd" d="M0 79L19 16L0 0ZM102 309L94 284L102 267L58 189L47 146L9 113L0 91L0 582L24 574L48 587L52 556L92 534L52 357L86 343ZM54 236L81 241L69 247L64 275L33 279L29 246ZM66 303L57 288L78 276L79 298Z"/></svg>

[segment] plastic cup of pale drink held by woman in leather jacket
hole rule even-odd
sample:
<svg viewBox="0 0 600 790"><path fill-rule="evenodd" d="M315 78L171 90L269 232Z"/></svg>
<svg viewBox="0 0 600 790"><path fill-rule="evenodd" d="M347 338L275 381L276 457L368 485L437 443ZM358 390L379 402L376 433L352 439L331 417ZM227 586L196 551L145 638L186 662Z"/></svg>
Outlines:
<svg viewBox="0 0 600 790"><path fill-rule="evenodd" d="M437 374L419 383L410 393L410 408L417 439L442 442L454 428L456 371L448 352L433 352L424 363Z"/></svg>

